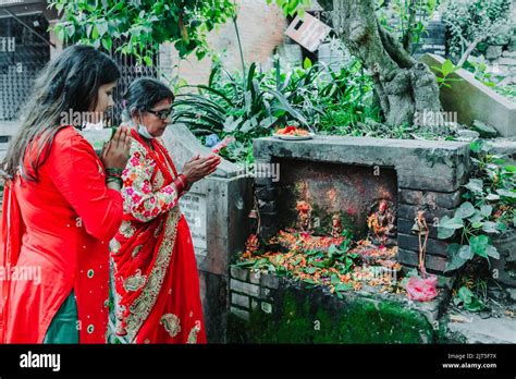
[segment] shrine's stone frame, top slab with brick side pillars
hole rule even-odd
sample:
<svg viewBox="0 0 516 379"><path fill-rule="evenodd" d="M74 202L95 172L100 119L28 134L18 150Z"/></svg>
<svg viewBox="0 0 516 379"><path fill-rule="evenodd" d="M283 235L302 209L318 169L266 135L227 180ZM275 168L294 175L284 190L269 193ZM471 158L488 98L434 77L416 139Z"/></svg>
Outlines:
<svg viewBox="0 0 516 379"><path fill-rule="evenodd" d="M460 185L468 180L470 170L469 148L466 143L402 140L355 137L323 137L287 142L274 137L258 138L254 143L255 163L267 166L278 158L299 159L370 167L371 170L394 169L397 176L397 246L398 261L407 267L418 265L418 239L411 234L414 218L419 209L426 210L430 227L426 267L432 272L443 272L450 241L437 239L437 223L443 216L451 216L460 205ZM263 236L274 235L278 224L278 192L280 181L256 178L255 192L267 211L260 211Z"/></svg>

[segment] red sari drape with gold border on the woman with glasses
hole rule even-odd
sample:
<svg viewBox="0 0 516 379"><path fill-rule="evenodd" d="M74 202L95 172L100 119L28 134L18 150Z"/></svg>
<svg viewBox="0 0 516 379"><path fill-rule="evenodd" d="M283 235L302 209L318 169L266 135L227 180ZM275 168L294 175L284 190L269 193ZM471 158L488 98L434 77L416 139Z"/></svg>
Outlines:
<svg viewBox="0 0 516 379"><path fill-rule="evenodd" d="M150 181L156 182L159 170L162 187L169 186L177 172L165 148L157 139L150 148L134 131L133 138L139 144L132 149L133 156L145 155L146 167L156 163ZM131 182L125 183L124 191L128 192ZM127 211L132 208L126 204L123 227L111 242L118 333L135 343L206 342L198 272L186 220L177 206L149 221Z"/></svg>

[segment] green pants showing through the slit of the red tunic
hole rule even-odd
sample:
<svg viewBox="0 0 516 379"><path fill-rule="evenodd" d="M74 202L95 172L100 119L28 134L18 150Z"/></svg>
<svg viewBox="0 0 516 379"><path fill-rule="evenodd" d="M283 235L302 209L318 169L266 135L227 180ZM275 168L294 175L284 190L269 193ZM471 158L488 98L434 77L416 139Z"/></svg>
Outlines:
<svg viewBox="0 0 516 379"><path fill-rule="evenodd" d="M72 290L48 327L42 343L78 343L77 303Z"/></svg>

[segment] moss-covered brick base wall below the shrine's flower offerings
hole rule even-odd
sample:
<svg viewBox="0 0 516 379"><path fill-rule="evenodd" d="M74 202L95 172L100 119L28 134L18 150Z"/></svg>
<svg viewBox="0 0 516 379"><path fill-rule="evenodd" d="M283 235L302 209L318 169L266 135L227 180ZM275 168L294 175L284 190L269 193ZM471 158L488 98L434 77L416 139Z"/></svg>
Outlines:
<svg viewBox="0 0 516 379"><path fill-rule="evenodd" d="M451 281L440 281L432 302L373 288L337 298L273 273L231 267L230 343L432 343L444 334L440 319Z"/></svg>

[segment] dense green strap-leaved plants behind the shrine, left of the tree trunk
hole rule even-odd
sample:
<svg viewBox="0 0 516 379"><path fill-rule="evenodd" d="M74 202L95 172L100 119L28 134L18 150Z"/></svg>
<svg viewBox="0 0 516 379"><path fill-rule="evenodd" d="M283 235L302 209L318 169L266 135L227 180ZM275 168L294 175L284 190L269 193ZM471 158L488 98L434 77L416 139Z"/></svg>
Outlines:
<svg viewBox="0 0 516 379"><path fill-rule="evenodd" d="M201 138L234 136L236 143L222 156L249 160L253 139L271 135L278 125L294 122L315 131L330 109L365 110L365 99L372 98L369 81L357 61L334 71L306 59L303 66L284 71L277 58L272 70L263 72L253 63L245 75L229 73L218 64L208 85L183 88L191 91L177 96L173 121L187 124Z"/></svg>

